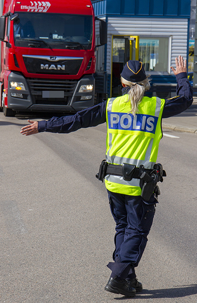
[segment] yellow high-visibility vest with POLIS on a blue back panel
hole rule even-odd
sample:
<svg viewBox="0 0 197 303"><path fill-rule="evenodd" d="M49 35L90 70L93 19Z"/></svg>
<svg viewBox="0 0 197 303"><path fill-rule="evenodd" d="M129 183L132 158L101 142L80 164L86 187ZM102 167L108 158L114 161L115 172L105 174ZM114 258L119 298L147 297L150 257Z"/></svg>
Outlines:
<svg viewBox="0 0 197 303"><path fill-rule="evenodd" d="M107 100L106 161L111 164L144 165L152 169L157 162L162 138L164 99L143 97L135 116L131 113L129 95ZM105 186L114 193L140 195L139 179L125 181L121 176L106 175Z"/></svg>

